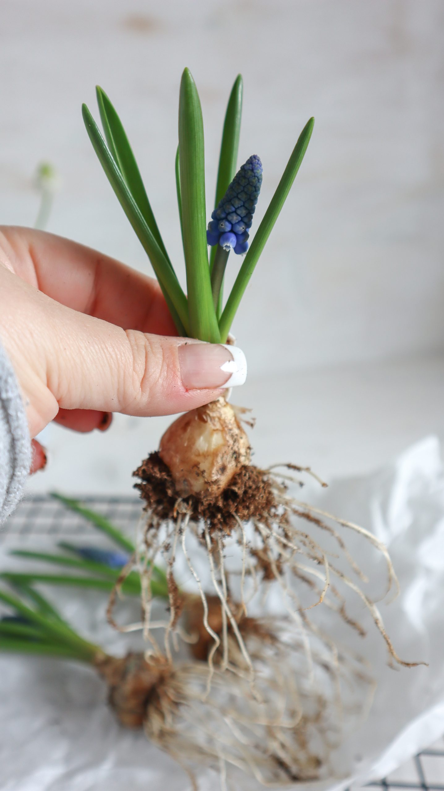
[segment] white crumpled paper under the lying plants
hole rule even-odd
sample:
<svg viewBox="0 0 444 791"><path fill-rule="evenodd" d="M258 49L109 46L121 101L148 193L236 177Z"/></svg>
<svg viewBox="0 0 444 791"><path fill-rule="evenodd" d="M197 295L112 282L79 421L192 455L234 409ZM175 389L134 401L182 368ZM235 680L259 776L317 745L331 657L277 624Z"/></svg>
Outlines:
<svg viewBox="0 0 444 791"><path fill-rule="evenodd" d="M361 644L378 678L370 715L338 754L336 778L306 786L340 791L388 774L444 732L444 475L438 441L419 442L374 475L337 481L320 502L389 547L401 594L389 607L382 604L381 614L400 656L429 663L393 671L381 636L370 630ZM365 565L368 545L353 540L353 554ZM122 650L120 635L103 624L103 596L57 595L83 634ZM79 664L0 656L0 734L2 791L190 787L180 767L142 733L117 725L101 680ZM214 773L204 770L199 778L202 791L218 788ZM260 788L247 778L236 787Z"/></svg>

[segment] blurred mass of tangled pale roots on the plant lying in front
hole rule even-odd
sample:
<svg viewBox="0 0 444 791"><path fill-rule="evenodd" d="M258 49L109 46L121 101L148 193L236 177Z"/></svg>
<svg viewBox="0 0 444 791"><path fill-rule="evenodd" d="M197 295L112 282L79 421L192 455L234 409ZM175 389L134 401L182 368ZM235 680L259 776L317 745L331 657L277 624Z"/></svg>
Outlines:
<svg viewBox="0 0 444 791"><path fill-rule="evenodd" d="M311 687L293 664L297 644L289 650L283 635L277 649L268 646L264 654L260 639L253 640L260 700L252 696L248 678L215 668L207 695L203 664L177 668L160 697L165 710L158 710L158 702L154 710L148 706L148 736L179 757L188 775L193 766L205 764L226 787L229 766L248 772L267 788L318 778L320 766L328 766L329 753L340 742L336 679L359 683L359 669L346 655L338 655L328 670L325 643L318 642L319 647L313 644L313 660L321 676ZM367 679L362 683L366 686Z"/></svg>

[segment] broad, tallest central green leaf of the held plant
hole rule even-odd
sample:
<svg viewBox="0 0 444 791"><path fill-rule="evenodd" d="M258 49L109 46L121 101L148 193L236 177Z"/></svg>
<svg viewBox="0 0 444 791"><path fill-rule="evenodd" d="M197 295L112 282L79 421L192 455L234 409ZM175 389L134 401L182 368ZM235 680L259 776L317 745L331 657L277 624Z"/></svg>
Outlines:
<svg viewBox="0 0 444 791"><path fill-rule="evenodd" d="M179 165L190 335L219 343L207 254L202 109L188 69L180 81Z"/></svg>

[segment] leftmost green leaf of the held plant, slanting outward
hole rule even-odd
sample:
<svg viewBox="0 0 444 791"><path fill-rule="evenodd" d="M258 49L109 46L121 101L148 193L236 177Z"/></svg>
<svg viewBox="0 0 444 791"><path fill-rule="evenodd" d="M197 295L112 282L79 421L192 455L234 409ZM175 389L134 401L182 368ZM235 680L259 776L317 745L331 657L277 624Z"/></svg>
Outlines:
<svg viewBox="0 0 444 791"><path fill-rule="evenodd" d="M187 297L185 297L183 290L180 288L180 283L176 278L176 274L173 272L169 259L165 258L149 226L146 225L146 221L142 217L139 207L131 195L127 184L125 184L120 169L112 157L112 153L104 142L104 138L97 127L97 123L94 121L93 116L85 104L82 105L82 115L86 131L89 134L89 139L93 143L93 149L97 153L97 157L101 162L106 176L108 176L109 183L115 191L123 211L131 222L143 249L150 259L157 280L161 286L162 293L169 307L169 311L176 323L177 331L180 332L180 334L184 332L188 334ZM180 320L179 323L177 322L177 318Z"/></svg>

